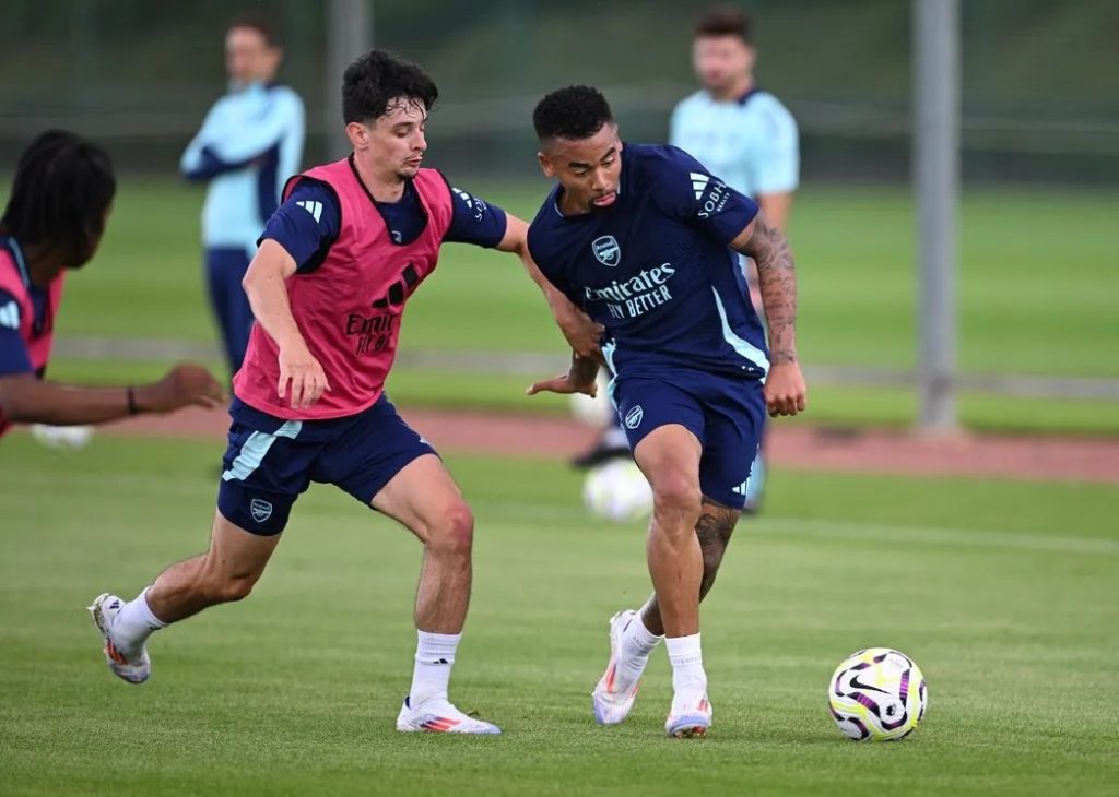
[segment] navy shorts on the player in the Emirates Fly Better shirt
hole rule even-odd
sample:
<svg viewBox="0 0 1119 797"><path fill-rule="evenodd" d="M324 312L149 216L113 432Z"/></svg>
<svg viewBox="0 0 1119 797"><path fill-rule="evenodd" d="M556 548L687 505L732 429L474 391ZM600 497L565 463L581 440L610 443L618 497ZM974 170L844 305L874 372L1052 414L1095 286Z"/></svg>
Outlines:
<svg viewBox="0 0 1119 797"><path fill-rule="evenodd" d="M716 503L742 509L765 423L756 379L676 370L664 377L619 377L611 383L631 449L653 429L679 424L703 446L699 487Z"/></svg>

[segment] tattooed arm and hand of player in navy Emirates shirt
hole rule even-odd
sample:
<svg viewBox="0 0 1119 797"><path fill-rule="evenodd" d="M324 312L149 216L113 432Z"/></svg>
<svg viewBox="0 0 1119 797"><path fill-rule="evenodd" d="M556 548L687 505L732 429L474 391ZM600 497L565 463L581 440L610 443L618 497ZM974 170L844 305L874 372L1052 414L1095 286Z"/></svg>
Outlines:
<svg viewBox="0 0 1119 797"><path fill-rule="evenodd" d="M760 212L731 246L758 265L762 306L769 324L772 366L765 379L765 404L770 415L797 415L805 410L808 389L797 361L797 272L792 250L781 230Z"/></svg>

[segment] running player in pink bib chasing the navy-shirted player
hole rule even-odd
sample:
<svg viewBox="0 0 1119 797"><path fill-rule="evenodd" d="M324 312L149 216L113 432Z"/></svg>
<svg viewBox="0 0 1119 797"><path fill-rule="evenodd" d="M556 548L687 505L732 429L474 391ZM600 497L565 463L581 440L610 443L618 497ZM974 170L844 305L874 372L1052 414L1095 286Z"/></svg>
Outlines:
<svg viewBox="0 0 1119 797"><path fill-rule="evenodd" d="M209 551L172 564L132 601L106 594L90 607L109 666L125 681L148 679L154 630L248 595L295 499L321 482L424 545L419 645L397 730L500 732L448 699L470 599L473 518L384 385L405 303L443 243L516 253L551 298L556 292L528 257L524 221L422 168L436 96L419 67L378 50L347 68L342 112L354 152L289 181L245 276L256 323L234 378Z"/></svg>

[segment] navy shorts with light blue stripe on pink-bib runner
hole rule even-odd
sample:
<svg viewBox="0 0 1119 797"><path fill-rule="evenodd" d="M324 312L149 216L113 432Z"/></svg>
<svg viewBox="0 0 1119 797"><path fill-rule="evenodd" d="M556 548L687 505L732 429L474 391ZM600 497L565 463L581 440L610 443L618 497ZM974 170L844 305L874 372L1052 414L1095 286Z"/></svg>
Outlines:
<svg viewBox="0 0 1119 797"><path fill-rule="evenodd" d="M331 420L284 420L236 398L229 416L217 507L254 534L283 531L311 482L336 484L368 506L405 465L435 453L384 395L364 412Z"/></svg>

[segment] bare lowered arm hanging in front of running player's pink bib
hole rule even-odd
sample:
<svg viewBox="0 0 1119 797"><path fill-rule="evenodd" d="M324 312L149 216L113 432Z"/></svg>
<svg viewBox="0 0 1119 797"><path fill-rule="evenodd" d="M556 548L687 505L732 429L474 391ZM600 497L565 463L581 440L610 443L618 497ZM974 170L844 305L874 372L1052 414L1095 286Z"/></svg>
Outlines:
<svg viewBox="0 0 1119 797"><path fill-rule="evenodd" d="M288 396L290 383L292 409L304 409L318 401L330 386L291 314L284 281L294 273L294 258L278 241L265 238L241 284L256 322L280 349L280 383L276 387L280 398Z"/></svg>

